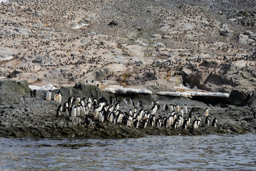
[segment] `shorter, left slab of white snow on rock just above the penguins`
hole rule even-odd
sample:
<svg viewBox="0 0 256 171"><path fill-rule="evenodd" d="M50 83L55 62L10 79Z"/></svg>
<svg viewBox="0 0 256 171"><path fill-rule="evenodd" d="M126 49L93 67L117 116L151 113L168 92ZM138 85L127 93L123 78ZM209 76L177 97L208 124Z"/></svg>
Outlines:
<svg viewBox="0 0 256 171"><path fill-rule="evenodd" d="M138 88L104 88L104 89L105 89L105 91L110 92L110 93L152 94L152 92L147 89L138 89Z"/></svg>

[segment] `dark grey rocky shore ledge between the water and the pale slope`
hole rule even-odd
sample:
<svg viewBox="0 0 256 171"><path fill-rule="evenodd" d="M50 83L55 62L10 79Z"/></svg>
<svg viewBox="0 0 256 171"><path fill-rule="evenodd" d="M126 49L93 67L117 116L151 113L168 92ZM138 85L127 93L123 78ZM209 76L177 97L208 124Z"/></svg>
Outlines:
<svg viewBox="0 0 256 171"><path fill-rule="evenodd" d="M22 81L25 82L26 81ZM12 80L2 80L1 85L9 85L15 89L26 90L28 87L23 84L14 83ZM18 86L17 86L18 85ZM36 92L36 97L30 97L29 92L22 94L15 94L15 99L20 100L18 103L11 103L0 106L0 136L1 137L84 137L95 139L124 139L124 138L139 138L147 135L209 135L209 134L245 134L255 133L256 120L253 119L252 113L253 103L255 103L254 97L248 101L249 105L243 107L235 107L234 105L226 104L205 104L197 100L188 99L185 97L165 97L165 99L159 100L160 109L156 112L156 117L170 115L169 111L164 111L162 106L164 104L178 104L182 106L186 104L190 110L193 111L192 120L196 120L198 116L201 116L202 124L198 129L193 129L192 123L190 123L188 129L172 127L157 128L147 125L143 128L142 123L139 124L139 128L136 129L134 125L132 127L125 127L123 123L113 124L108 121L103 123L99 122L99 119L94 118L94 111L91 109L89 117L92 123L88 127L86 125L84 116L72 117L62 112L61 116L56 116L56 109L59 104L64 104L70 96L80 97L92 97L99 98L105 97L109 99L110 96L115 97L111 93L101 91L96 86L88 84L76 84L75 87L62 87L53 91L55 94L57 91L63 95L62 102L56 102L54 100L47 101L45 99L46 92ZM6 92L7 95L12 95L10 92ZM25 97L25 101L21 101L21 97ZM52 95L53 96L53 95ZM150 110L151 95L148 96L134 96L136 100L142 100L144 103L144 109ZM123 96L118 95L117 98L120 102L120 111L129 112L129 109L134 109L131 104L125 105L123 103ZM108 101L109 103L109 101ZM209 116L218 119L217 127L205 125L204 110L209 109ZM137 107L139 111L140 107ZM185 115L184 117L188 117Z"/></svg>

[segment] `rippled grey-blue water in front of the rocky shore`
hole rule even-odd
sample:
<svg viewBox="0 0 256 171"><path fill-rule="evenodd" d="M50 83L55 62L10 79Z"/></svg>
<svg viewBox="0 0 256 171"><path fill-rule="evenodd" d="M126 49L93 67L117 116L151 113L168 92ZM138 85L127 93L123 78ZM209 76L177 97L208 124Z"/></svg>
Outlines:
<svg viewBox="0 0 256 171"><path fill-rule="evenodd" d="M0 138L0 170L256 170L255 139L256 135ZM92 145L56 146L67 143Z"/></svg>

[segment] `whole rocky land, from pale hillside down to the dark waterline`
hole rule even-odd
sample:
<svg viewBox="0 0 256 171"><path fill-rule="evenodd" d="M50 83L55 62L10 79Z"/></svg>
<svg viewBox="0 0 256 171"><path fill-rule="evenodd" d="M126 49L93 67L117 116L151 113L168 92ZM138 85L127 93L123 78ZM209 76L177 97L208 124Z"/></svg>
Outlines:
<svg viewBox="0 0 256 171"><path fill-rule="evenodd" d="M0 3L0 136L128 138L255 132L256 20L254 1L76 1ZM22 81L21 81L22 80ZM70 96L142 100L146 109L188 105L202 127L188 130L56 117L59 103L29 86L52 84ZM173 97L180 85L227 97ZM113 88L141 89L139 93ZM107 89L109 91L107 91ZM127 90L127 89L126 89ZM52 94L55 94L54 90ZM147 93L145 93L147 92ZM161 92L161 93L159 93ZM159 95L165 93L165 95ZM21 98L25 101L22 103ZM217 127L204 125L209 108ZM231 110L230 110L231 109ZM188 116L184 116L188 117Z"/></svg>

